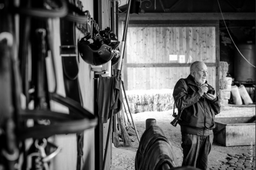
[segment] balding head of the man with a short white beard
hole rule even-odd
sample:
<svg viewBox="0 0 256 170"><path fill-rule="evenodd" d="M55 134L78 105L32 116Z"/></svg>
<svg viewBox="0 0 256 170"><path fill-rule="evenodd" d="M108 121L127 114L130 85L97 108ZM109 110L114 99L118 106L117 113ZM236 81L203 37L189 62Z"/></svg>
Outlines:
<svg viewBox="0 0 256 170"><path fill-rule="evenodd" d="M208 76L207 66L205 63L199 63L196 70L193 70L192 76L200 85L205 83L206 77Z"/></svg>

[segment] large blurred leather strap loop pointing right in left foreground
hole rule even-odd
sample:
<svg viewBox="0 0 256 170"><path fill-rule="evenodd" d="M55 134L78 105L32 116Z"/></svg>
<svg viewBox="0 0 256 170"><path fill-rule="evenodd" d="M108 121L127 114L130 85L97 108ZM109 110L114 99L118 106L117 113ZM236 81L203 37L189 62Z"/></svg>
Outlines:
<svg viewBox="0 0 256 170"><path fill-rule="evenodd" d="M56 93L49 93L53 101L65 105L76 115L52 112L48 110L20 110L21 119L49 119L51 124L36 125L18 129L18 138L47 138L57 134L77 133L93 128L98 119L79 103L68 97L62 97Z"/></svg>

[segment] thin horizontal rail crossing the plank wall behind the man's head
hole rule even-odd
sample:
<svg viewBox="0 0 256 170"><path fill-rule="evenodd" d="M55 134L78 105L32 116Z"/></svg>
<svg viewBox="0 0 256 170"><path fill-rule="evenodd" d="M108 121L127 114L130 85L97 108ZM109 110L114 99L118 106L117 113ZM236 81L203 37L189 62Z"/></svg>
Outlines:
<svg viewBox="0 0 256 170"><path fill-rule="evenodd" d="M190 66L191 63L127 63L127 68L140 67L184 67ZM205 63L206 66L217 66L217 63Z"/></svg>

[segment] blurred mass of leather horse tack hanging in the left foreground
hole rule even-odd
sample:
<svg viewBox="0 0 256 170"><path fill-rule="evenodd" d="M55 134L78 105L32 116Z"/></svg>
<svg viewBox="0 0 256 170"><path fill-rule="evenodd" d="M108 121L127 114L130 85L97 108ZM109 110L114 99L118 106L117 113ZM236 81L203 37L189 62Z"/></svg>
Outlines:
<svg viewBox="0 0 256 170"><path fill-rule="evenodd" d="M5 96L0 104L0 165L5 169L12 170L17 166L23 170L49 169L50 161L61 150L48 140L49 137L68 133L77 133L77 169L80 169L84 130L98 124L98 119L82 107L77 79L79 69L74 40L75 22L88 22L89 13L82 12L80 1L78 4L64 0L51 2L33 1L23 3L20 7L7 3L1 11L6 14L6 18L0 18L2 23L9 24L6 28L0 28L0 94ZM20 21L24 22L20 26L20 38L15 37L13 30L14 13L18 13ZM65 25L61 32L69 34L62 36L61 48L66 97L57 94L59 75L56 74L54 63L56 56L51 26L46 20L56 17L65 17L61 21ZM9 32L2 32L4 29ZM46 71L48 51L51 52L51 74L54 75L55 83L51 92ZM26 102L21 104L21 101ZM52 111L51 101L68 107L69 114ZM26 140L29 138L32 138L32 144L27 149Z"/></svg>

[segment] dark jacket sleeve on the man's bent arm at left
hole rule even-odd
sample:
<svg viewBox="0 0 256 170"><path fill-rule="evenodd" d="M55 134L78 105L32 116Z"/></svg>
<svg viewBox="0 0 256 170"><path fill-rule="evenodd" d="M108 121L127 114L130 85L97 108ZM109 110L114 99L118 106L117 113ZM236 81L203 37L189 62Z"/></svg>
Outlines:
<svg viewBox="0 0 256 170"><path fill-rule="evenodd" d="M174 102L176 102L176 107L179 110L190 107L201 98L197 91L192 94L188 94L187 89L188 87L184 79L180 79L174 87L172 96L174 97Z"/></svg>

